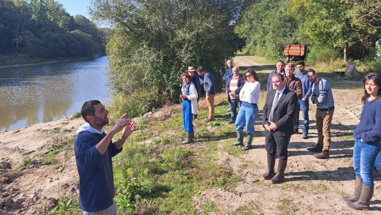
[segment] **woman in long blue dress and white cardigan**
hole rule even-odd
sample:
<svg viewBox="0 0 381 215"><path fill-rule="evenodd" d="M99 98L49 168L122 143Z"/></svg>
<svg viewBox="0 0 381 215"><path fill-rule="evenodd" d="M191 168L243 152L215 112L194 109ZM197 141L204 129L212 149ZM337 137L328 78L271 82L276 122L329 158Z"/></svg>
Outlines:
<svg viewBox="0 0 381 215"><path fill-rule="evenodd" d="M191 80L191 76L188 73L182 73L180 75L182 82L181 95L182 99L182 118L184 122L184 130L187 132L187 139L182 144L188 144L193 142L193 115L197 114L199 107L197 104L197 90Z"/></svg>

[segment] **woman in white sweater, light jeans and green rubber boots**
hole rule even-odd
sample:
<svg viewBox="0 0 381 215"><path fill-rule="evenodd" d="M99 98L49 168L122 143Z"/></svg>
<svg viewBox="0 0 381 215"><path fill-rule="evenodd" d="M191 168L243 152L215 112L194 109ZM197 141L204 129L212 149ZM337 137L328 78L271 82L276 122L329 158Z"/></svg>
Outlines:
<svg viewBox="0 0 381 215"><path fill-rule="evenodd" d="M243 146L243 127L246 124L247 143L242 150L249 150L254 137L254 123L258 115L259 91L261 90L261 78L258 73L249 68L244 73L245 85L243 85L239 98L242 101L237 119L235 120L235 130L237 131L237 142L234 146Z"/></svg>

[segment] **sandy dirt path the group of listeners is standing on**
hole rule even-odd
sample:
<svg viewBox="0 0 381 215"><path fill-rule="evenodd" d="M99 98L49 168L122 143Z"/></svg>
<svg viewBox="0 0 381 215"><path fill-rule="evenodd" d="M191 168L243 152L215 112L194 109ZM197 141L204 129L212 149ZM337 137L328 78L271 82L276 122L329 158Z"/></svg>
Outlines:
<svg viewBox="0 0 381 215"><path fill-rule="evenodd" d="M273 70L245 56L236 57L234 63L242 67L256 67L259 73L269 73ZM262 84L264 83L265 81ZM235 173L245 180L229 191L213 189L203 192L202 197L194 198L198 205L213 203L216 205L217 214L233 212L241 205L252 207L259 214L379 214L381 210L380 178L376 178L378 181L375 182L370 212L350 210L345 202L340 200L341 196L352 194L354 189L355 176L352 167L354 141L351 135L354 126L359 123L362 105L359 91L332 87L335 113L332 120L329 159L316 159L313 157L314 153L306 150L307 147L314 146L317 141L315 105L310 102L310 138L301 139L301 134L291 137L285 182L274 185L268 181L261 181L261 175L266 171L267 160L264 132L263 129L257 129L261 128L262 118L258 117L253 149L242 153L239 157L232 157L224 148L229 145L220 145L222 150L219 162L230 165ZM266 93L264 92L261 96L266 96ZM263 107L263 103L259 104L259 107ZM302 117L301 114L300 117ZM303 120L299 121L302 124Z"/></svg>

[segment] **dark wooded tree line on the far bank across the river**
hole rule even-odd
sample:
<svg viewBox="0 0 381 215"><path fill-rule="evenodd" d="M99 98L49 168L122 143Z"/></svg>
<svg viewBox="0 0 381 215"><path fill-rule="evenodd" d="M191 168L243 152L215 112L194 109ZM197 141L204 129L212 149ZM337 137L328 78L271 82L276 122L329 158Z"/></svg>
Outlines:
<svg viewBox="0 0 381 215"><path fill-rule="evenodd" d="M105 36L83 15L70 16L54 0L1 0L0 53L80 58L104 52Z"/></svg>

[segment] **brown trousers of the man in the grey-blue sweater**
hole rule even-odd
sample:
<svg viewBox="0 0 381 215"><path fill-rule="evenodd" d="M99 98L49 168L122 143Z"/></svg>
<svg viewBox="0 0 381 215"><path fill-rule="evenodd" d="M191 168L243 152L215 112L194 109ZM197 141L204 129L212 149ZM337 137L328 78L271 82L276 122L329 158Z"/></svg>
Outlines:
<svg viewBox="0 0 381 215"><path fill-rule="evenodd" d="M331 123L334 110L320 111L316 109L317 145L323 150L330 150Z"/></svg>

